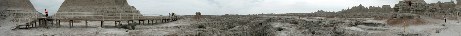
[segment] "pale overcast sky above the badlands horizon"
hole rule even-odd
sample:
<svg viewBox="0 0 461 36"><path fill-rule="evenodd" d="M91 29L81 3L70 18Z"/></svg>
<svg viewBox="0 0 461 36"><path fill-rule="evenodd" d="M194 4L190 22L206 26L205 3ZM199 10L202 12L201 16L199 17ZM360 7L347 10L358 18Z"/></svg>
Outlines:
<svg viewBox="0 0 461 36"><path fill-rule="evenodd" d="M390 5L401 0L127 0L141 14L175 13L179 15L224 15L224 14L286 14L311 13L317 10L340 11L353 6ZM451 0L424 0L426 3ZM454 0L456 3L456 0ZM30 0L35 9L44 13L56 13L64 0Z"/></svg>

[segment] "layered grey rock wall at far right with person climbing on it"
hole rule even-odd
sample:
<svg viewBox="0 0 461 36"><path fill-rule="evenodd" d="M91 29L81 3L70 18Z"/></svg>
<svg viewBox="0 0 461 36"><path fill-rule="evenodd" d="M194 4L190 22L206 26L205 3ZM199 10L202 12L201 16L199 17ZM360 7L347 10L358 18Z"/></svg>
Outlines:
<svg viewBox="0 0 461 36"><path fill-rule="evenodd" d="M410 0L399 1L399 3L394 7L395 10L393 14L418 14L421 16L441 18L443 14L449 15L448 17L455 17L454 14L459 12L454 11L455 9L444 10L443 8L449 8L447 6L440 6L441 9L434 8L431 4L426 4L424 0L411 0L413 4L410 7L408 5L408 1ZM437 4L434 4L434 6L437 7Z"/></svg>

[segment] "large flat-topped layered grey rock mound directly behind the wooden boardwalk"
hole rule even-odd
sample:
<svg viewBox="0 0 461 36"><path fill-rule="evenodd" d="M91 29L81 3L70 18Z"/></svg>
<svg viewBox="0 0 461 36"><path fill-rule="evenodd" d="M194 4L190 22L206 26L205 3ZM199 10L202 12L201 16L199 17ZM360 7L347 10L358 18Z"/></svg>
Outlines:
<svg viewBox="0 0 461 36"><path fill-rule="evenodd" d="M126 0L65 0L57 14L55 15L102 15L102 14L69 14L76 12L86 13L125 13L119 14L104 14L105 16L142 16L139 10L134 6L130 6ZM55 16L57 18L69 18L65 16ZM74 16L73 18L81 18ZM100 17L89 17L100 18ZM113 18L113 17L108 17ZM117 17L116 17L117 18ZM133 17L128 17L133 18ZM136 17L135 17L136 18ZM138 17L143 18L143 17Z"/></svg>

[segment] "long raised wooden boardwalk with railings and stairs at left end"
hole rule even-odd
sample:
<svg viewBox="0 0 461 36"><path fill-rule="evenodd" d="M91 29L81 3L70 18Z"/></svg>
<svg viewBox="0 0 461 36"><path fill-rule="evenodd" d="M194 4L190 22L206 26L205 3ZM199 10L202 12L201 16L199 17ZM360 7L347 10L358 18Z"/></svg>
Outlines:
<svg viewBox="0 0 461 36"><path fill-rule="evenodd" d="M118 26L120 27L120 25L117 25L117 22L120 23L120 21L128 21L128 23L130 24L130 22L133 22L133 21L139 21L139 24L141 24L140 22L142 22L142 25L144 25L144 21L147 20L148 23L149 21L152 21L152 23L154 23L154 20L155 20L155 23L157 23L157 20L159 20L160 23L163 23L163 22L169 22L169 21L176 21L178 20L179 18L133 18L133 19L86 19L86 18L32 18L32 19L37 19L35 21L39 22L39 26L45 26L46 28L47 27L47 22L46 21L51 21L51 25L53 26L53 20L56 20L56 28L60 27L60 20L69 20L69 28L73 27L73 20L82 20L82 21L85 21L85 26L88 27L88 21L101 21L101 27L104 27L104 21L115 21L115 26ZM36 22L35 22L36 23ZM132 25L134 25L134 23L131 23ZM30 24L30 25L35 25L35 24ZM152 24L154 25L154 24ZM33 27L36 27L36 26L33 26Z"/></svg>

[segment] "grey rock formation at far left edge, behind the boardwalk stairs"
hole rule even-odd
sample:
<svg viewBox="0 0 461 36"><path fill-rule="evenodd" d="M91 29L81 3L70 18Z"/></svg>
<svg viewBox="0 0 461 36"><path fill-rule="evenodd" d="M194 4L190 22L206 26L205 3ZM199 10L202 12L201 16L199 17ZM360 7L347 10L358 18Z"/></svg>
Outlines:
<svg viewBox="0 0 461 36"><path fill-rule="evenodd" d="M0 0L0 9L1 19L24 18L28 14L42 15L29 0Z"/></svg>

